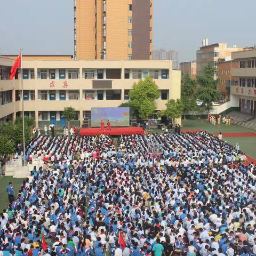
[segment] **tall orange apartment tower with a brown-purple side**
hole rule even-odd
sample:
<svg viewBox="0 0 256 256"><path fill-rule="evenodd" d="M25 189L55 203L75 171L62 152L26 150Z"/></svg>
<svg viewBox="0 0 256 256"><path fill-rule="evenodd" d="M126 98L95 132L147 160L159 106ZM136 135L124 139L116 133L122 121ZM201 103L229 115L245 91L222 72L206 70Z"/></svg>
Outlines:
<svg viewBox="0 0 256 256"><path fill-rule="evenodd" d="M74 58L152 59L153 0L74 0Z"/></svg>

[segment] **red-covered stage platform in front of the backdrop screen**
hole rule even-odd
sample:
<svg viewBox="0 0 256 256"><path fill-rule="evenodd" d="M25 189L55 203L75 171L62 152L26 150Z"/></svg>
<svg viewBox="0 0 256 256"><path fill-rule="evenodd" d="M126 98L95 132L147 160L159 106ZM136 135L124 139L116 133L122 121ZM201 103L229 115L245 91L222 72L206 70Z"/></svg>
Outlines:
<svg viewBox="0 0 256 256"><path fill-rule="evenodd" d="M145 134L141 127L111 127L111 130L101 131L100 127L81 128L80 135L128 135L128 134Z"/></svg>

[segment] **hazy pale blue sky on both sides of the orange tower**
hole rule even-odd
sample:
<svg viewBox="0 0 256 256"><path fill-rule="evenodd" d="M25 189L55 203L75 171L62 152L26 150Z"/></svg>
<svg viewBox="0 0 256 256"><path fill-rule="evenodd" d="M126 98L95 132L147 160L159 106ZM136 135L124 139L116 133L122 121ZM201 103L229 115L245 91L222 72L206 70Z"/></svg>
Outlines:
<svg viewBox="0 0 256 256"><path fill-rule="evenodd" d="M153 49L182 62L196 59L203 38L253 46L255 10L256 0L154 0ZM73 54L73 0L2 0L0 13L0 54Z"/></svg>

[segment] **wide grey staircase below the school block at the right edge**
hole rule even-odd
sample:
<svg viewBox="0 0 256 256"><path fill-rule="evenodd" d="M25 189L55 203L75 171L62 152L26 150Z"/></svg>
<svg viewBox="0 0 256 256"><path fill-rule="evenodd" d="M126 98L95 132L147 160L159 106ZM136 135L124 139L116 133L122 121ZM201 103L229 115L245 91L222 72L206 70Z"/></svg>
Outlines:
<svg viewBox="0 0 256 256"><path fill-rule="evenodd" d="M247 129L256 131L256 116L233 111L230 112L226 117L231 119L232 124L240 125Z"/></svg>

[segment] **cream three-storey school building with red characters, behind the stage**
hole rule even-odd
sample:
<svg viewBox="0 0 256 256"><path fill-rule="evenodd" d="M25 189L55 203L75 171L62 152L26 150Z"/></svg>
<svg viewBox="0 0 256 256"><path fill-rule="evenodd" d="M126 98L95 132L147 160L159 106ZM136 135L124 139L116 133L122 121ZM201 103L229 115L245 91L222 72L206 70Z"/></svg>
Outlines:
<svg viewBox="0 0 256 256"><path fill-rule="evenodd" d="M23 57L25 114L35 118L37 127L65 125L62 111L67 106L76 109L72 123L81 126L84 117L91 119L92 107L118 107L127 102L133 83L147 76L161 92L157 110L165 109L169 99L180 99L180 71L172 69L172 61L40 58ZM13 60L7 60L10 69ZM10 119L14 119L21 114L21 79L2 81L1 87L10 93L6 107L0 107L1 117L12 115Z"/></svg>

